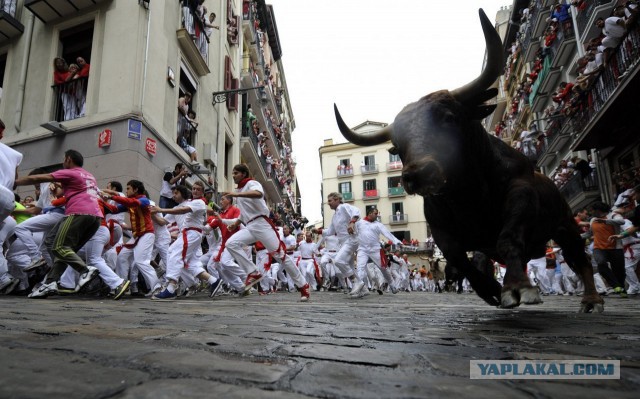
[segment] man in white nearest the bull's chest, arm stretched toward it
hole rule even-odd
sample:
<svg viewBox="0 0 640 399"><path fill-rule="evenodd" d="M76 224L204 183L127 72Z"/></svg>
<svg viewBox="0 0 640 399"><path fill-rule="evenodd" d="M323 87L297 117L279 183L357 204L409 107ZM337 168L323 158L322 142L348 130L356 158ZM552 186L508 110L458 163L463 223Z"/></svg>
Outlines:
<svg viewBox="0 0 640 399"><path fill-rule="evenodd" d="M364 219L356 222L356 230L358 237L358 277L364 280L367 274L367 263L369 260L380 269L382 275L389 285L393 285L393 278L389 273L387 265L383 263L382 248L380 247L380 235L384 236L393 244L400 245L402 241L398 240L389 230L380 222L378 222L378 210L376 208L369 209ZM386 259L386 257L385 257ZM360 298L369 293L366 285L359 292L351 294L352 297ZM382 290L378 287L378 294L382 294Z"/></svg>

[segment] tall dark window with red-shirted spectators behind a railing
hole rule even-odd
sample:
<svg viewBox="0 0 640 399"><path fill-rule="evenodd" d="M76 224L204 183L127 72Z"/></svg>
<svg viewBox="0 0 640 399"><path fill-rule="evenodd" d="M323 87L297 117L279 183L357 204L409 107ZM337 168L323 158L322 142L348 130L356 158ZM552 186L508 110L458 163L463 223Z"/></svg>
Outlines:
<svg viewBox="0 0 640 399"><path fill-rule="evenodd" d="M53 119L61 122L86 113L93 21L60 32L60 56L54 62ZM73 73L71 80L66 80Z"/></svg>

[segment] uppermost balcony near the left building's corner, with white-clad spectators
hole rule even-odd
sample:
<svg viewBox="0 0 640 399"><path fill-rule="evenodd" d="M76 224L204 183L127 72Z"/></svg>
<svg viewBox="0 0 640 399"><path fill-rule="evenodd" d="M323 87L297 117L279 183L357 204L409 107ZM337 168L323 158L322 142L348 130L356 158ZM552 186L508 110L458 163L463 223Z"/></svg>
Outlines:
<svg viewBox="0 0 640 399"><path fill-rule="evenodd" d="M205 76L209 69L209 38L207 37L202 20L191 11L182 11L182 27L176 31L178 44L185 57L190 61L198 76ZM196 30L196 25L198 29Z"/></svg>

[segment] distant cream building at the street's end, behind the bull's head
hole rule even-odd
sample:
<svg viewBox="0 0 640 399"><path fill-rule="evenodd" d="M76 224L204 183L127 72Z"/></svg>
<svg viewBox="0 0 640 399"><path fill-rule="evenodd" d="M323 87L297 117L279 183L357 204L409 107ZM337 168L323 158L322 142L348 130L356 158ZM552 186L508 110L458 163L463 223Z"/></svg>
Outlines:
<svg viewBox="0 0 640 399"><path fill-rule="evenodd" d="M366 134L386 126L364 122L354 131ZM322 169L322 215L327 226L333 210L327 195L338 192L343 201L360 209L362 216L377 208L380 221L400 240L424 244L430 235L424 217L422 197L407 195L402 186L402 161L388 152L389 143L360 147L325 140L319 149Z"/></svg>

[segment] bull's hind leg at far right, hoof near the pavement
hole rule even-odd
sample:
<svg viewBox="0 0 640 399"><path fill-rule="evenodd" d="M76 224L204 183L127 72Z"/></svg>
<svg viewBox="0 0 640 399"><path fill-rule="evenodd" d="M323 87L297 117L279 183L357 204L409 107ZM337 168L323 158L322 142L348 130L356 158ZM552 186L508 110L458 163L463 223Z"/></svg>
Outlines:
<svg viewBox="0 0 640 399"><path fill-rule="evenodd" d="M604 311L604 300L596 290L596 284L593 280L593 267L584 253L584 241L580 238L573 226L565 228L561 227L554 237L554 240L560 248L562 255L571 270L577 274L584 284L584 295L582 296L582 306L580 313L601 313Z"/></svg>

